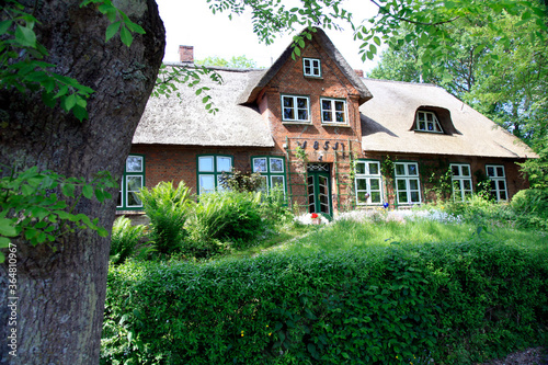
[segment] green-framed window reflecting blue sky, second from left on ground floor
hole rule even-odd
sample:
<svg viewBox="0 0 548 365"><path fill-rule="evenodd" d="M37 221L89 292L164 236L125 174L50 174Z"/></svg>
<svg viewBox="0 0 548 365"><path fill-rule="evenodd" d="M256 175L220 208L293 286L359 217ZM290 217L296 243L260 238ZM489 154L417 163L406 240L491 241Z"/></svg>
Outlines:
<svg viewBox="0 0 548 365"><path fill-rule="evenodd" d="M218 155L198 156L197 164L198 194L213 193L222 190L219 179L222 172L230 173L232 171L232 157Z"/></svg>

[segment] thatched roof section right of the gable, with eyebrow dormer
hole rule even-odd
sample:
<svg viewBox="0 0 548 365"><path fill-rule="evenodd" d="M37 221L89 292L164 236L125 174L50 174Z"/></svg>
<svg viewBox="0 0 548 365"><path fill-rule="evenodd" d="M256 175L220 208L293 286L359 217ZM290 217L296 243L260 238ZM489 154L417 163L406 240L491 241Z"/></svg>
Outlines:
<svg viewBox="0 0 548 365"><path fill-rule="evenodd" d="M365 151L537 157L518 138L442 88L374 79L363 81L374 95L359 107L362 147ZM441 121L446 134L414 132L413 123L419 109L433 110L438 118L447 118ZM447 122L453 122L453 126L447 126Z"/></svg>

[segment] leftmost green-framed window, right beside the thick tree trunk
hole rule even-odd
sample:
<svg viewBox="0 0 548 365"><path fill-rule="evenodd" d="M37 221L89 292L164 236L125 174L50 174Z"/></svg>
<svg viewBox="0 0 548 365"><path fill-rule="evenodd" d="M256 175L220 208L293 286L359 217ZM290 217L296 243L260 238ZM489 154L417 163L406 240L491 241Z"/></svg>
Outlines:
<svg viewBox="0 0 548 365"><path fill-rule="evenodd" d="M142 186L145 186L145 156L129 155L119 183L116 208L121 210L141 209L142 203L137 193Z"/></svg>

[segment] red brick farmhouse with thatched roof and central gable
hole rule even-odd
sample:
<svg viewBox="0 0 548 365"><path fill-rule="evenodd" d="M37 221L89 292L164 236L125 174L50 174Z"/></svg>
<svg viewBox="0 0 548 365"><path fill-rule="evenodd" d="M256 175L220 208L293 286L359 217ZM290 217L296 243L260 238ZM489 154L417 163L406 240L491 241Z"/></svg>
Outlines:
<svg viewBox="0 0 548 365"><path fill-rule="evenodd" d="M181 98L151 98L118 213L141 210L141 186L184 181L199 195L232 169L260 172L265 190L278 185L290 205L328 215L444 192L463 201L481 182L506 201L528 186L518 163L537 156L482 114L433 84L363 78L320 28L305 39L300 57L288 47L266 70L215 68L222 84L203 78L215 114L185 84ZM168 67L194 67L193 47L180 54Z"/></svg>

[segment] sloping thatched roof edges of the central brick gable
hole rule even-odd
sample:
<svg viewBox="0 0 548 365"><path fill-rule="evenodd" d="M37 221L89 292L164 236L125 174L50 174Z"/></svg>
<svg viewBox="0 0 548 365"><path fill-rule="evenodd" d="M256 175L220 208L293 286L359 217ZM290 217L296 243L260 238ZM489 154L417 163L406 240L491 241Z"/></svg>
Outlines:
<svg viewBox="0 0 548 365"><path fill-rule="evenodd" d="M335 48L331 39L326 35L321 28L317 27L316 32L311 33L312 38L318 42L329 57L335 62L341 72L346 77L346 79L352 83L352 85L359 93L359 104L365 103L367 100L372 99L372 94L369 90L362 82L362 79L356 75L355 70L346 62L344 57L339 53ZM285 52L278 59L274 62L274 65L269 68L266 72L263 75L256 75L256 79L254 82L250 82L249 87L241 94L239 102L242 104L250 104L256 101L256 96L261 92L261 90L272 80L272 78L279 71L279 69L292 58L292 45L285 48Z"/></svg>

